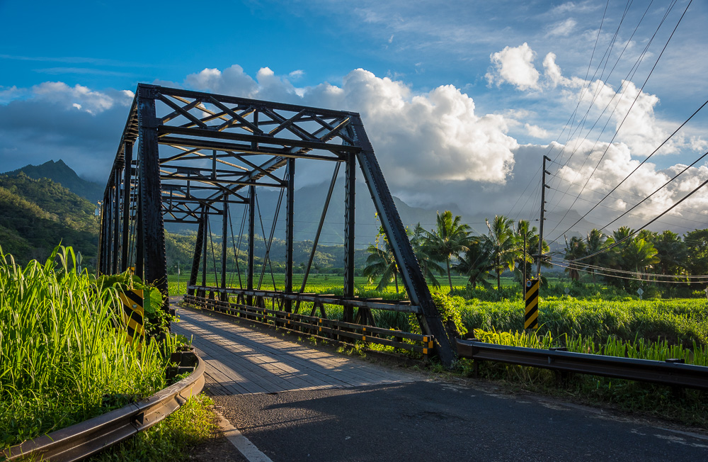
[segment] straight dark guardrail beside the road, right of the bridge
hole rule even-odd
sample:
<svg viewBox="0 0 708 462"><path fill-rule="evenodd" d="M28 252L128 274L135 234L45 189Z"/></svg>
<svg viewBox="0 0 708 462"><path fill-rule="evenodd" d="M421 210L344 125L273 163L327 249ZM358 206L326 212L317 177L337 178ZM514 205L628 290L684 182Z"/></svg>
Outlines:
<svg viewBox="0 0 708 462"><path fill-rule="evenodd" d="M708 390L708 367L683 364L678 360L619 358L571 351L508 347L462 339L457 339L457 354L462 358L476 361L498 361L563 372Z"/></svg>

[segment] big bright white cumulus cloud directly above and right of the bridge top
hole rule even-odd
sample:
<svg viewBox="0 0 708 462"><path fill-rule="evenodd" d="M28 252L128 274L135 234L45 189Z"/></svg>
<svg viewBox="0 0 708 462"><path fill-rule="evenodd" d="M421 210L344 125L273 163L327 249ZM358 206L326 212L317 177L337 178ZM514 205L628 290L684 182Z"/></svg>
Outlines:
<svg viewBox="0 0 708 462"><path fill-rule="evenodd" d="M361 113L387 181L473 180L503 184L513 168L516 141L507 120L477 115L474 101L455 86L416 94L402 81L355 69L341 86L296 88L264 67L251 79L239 66L230 72L190 74L188 86L270 101L286 101ZM227 69L227 70L229 70Z"/></svg>

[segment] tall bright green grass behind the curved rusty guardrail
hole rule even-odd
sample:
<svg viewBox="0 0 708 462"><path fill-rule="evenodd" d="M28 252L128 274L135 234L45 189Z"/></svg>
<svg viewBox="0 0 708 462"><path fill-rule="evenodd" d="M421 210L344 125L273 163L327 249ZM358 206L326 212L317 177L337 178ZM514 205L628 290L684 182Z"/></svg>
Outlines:
<svg viewBox="0 0 708 462"><path fill-rule="evenodd" d="M164 388L176 341L128 344L120 310L71 247L25 267L0 249L0 448Z"/></svg>

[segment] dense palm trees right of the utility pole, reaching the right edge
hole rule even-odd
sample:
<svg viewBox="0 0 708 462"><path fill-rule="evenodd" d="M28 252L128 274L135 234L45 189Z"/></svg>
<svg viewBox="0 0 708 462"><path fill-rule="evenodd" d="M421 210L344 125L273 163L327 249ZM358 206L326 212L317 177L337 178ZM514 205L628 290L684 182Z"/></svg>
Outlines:
<svg viewBox="0 0 708 462"><path fill-rule="evenodd" d="M597 229L586 238L566 240L564 259L566 272L578 280L581 272L603 274L605 281L626 286L632 279L650 279L651 274L663 276L701 276L707 273L708 230L687 232L682 239L675 232L636 233L623 226L605 235Z"/></svg>

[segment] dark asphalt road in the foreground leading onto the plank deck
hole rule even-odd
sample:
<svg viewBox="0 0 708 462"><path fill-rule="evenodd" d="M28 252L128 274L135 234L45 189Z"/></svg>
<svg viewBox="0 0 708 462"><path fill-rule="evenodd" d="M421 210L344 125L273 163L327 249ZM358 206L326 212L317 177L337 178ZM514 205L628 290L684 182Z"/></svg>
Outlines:
<svg viewBox="0 0 708 462"><path fill-rule="evenodd" d="M708 437L443 382L214 397L285 461L708 461Z"/></svg>

